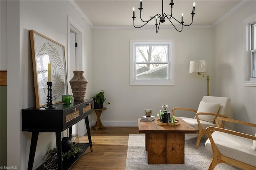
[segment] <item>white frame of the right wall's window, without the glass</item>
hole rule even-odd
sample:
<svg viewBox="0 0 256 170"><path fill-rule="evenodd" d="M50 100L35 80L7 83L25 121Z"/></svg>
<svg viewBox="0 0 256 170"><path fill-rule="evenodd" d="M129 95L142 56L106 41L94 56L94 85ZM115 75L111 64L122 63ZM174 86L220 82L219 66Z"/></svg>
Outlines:
<svg viewBox="0 0 256 170"><path fill-rule="evenodd" d="M243 22L244 39L244 86L256 86L256 77L252 75L251 24L256 22L256 14Z"/></svg>

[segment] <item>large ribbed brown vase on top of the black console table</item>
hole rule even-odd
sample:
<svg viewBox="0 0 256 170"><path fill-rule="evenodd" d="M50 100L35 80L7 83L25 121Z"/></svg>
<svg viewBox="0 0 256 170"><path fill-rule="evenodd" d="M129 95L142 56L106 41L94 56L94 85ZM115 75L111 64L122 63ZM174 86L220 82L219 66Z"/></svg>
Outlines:
<svg viewBox="0 0 256 170"><path fill-rule="evenodd" d="M73 71L74 76L69 81L74 101L84 101L88 81L84 77L84 71Z"/></svg>

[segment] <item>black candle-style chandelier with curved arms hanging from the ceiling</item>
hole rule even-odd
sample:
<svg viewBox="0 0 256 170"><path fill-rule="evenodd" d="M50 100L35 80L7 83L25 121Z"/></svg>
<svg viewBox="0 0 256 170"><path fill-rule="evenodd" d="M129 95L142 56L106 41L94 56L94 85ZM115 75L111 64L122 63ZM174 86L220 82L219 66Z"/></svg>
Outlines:
<svg viewBox="0 0 256 170"><path fill-rule="evenodd" d="M163 9L164 9L164 0L162 0L162 14L156 14L155 16L150 17L149 20L144 21L144 20L142 20L142 18L141 18L141 11L142 11L143 8L142 8L142 0L140 0L140 8L138 8L138 9L140 10L140 20L141 20L142 22L144 22L145 24L142 25L142 26L139 26L139 27L136 27L136 26L134 25L134 19L135 19L136 17L135 17L135 12L134 12L135 8L133 7L133 8L132 8L133 26L134 26L135 28L142 28L143 26L145 26L146 24L148 24L148 22L150 22L153 18L155 18L155 19L156 19L156 24L155 24L155 25L156 25L156 33L158 33L160 23L164 23L165 20L169 20L170 23L172 24L172 26L174 26L174 28L175 28L178 32L182 32L183 26L190 26L190 25L193 23L193 17L194 17L194 14L196 14L196 13L195 13L195 5L196 5L196 2L193 3L193 9L192 9L192 13L191 13L191 15L192 15L191 24L188 24L188 25L184 24L184 18L183 18L183 15L184 15L184 14L183 14L183 12L182 12L182 14L181 14L181 21L178 21L176 18L174 18L174 17L172 16L172 6L174 5L173 0L171 0L171 2L170 2L169 5L171 6L171 14L166 14L166 13L163 12ZM159 19L159 24L158 24L158 19ZM173 21L176 21L178 24L181 25L181 30L178 30L178 29L176 28L176 26L172 23L171 19L173 19Z"/></svg>

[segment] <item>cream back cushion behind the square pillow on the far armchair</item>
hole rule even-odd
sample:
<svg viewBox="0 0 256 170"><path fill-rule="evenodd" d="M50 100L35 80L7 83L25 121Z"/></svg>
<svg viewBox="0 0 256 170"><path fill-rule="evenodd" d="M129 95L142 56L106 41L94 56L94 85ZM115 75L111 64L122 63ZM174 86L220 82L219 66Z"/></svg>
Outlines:
<svg viewBox="0 0 256 170"><path fill-rule="evenodd" d="M218 114L227 116L229 113L230 98L229 97L215 97L215 96L204 96L202 101L220 103L220 109Z"/></svg>

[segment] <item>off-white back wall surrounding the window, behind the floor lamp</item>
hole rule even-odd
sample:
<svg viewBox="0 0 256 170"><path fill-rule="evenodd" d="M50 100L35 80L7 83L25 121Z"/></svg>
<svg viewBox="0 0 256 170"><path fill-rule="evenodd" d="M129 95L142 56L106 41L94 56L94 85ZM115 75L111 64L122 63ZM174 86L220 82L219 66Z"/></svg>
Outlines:
<svg viewBox="0 0 256 170"><path fill-rule="evenodd" d="M174 39L175 85L131 86L129 85L130 40ZM142 109L152 109L156 115L163 104L173 107L197 109L207 95L206 77L189 73L191 60L205 59L212 63L213 30L93 30L93 92L105 91L110 101L102 114L105 126L138 126ZM210 81L213 74L209 65ZM210 95L213 87L210 86ZM180 116L182 116L181 114ZM191 115L194 117L194 115Z"/></svg>

